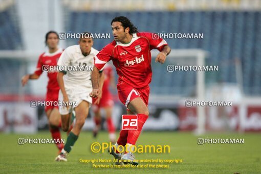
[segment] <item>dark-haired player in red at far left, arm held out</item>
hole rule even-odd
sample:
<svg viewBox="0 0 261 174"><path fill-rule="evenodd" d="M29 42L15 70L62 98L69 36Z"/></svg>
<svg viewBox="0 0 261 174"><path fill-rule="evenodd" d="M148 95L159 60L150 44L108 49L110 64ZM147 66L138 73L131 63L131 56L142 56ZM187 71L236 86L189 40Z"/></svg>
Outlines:
<svg viewBox="0 0 261 174"><path fill-rule="evenodd" d="M63 51L61 48L58 47L59 37L57 32L49 31L46 34L45 42L48 46L48 51L42 53L39 56L35 72L33 74L27 74L21 79L21 83L23 84L23 86L27 84L29 79L38 79L42 74L43 66L57 66L57 61ZM47 75L49 81L47 85L46 101L58 101L58 93L60 88L56 78L57 72L48 72ZM53 139L61 140L61 134L59 130L61 116L58 111L58 106L45 106L45 112L49 121L49 129ZM59 151L61 151L61 149L63 148L63 143L57 143L56 146Z"/></svg>

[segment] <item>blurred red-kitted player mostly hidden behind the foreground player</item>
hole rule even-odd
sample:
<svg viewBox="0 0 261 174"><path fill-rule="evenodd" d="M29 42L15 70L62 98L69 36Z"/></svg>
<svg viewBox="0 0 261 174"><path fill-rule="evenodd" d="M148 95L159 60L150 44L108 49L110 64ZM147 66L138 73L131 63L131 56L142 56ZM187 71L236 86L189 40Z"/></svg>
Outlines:
<svg viewBox="0 0 261 174"><path fill-rule="evenodd" d="M115 127L113 124L112 119L112 110L113 110L113 97L110 92L110 85L112 85L112 89L115 89L115 81L114 81L114 74L113 69L110 64L106 64L103 69L104 72L104 82L102 86L102 97L101 98L93 98L93 112L94 112L94 122L95 127L93 130L94 137L97 136L98 131L101 127L101 113L100 110L103 109L106 114L106 123L107 129L109 133L109 139L112 143L115 143L116 136L115 136ZM99 100L99 104L97 104Z"/></svg>

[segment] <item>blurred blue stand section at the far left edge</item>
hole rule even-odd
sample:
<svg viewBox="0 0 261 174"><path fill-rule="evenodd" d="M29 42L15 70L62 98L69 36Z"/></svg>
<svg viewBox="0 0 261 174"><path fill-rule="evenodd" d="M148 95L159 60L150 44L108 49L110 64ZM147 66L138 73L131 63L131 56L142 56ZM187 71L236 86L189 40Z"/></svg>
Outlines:
<svg viewBox="0 0 261 174"><path fill-rule="evenodd" d="M23 42L18 25L18 16L12 1L0 1L0 50L21 50ZM0 64L1 93L17 94L19 66L22 60L2 58ZM11 73L10 73L11 72ZM10 77L12 75L12 77Z"/></svg>

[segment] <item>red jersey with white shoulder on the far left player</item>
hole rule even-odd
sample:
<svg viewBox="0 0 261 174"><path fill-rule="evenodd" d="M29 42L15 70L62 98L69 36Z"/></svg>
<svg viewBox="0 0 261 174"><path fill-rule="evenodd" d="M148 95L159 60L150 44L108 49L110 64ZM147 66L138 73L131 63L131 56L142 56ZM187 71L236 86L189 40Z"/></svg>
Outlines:
<svg viewBox="0 0 261 174"><path fill-rule="evenodd" d="M54 53L49 53L48 51L45 53L42 53L39 56L36 70L34 73L37 75L41 75L43 66L57 66L57 62L61 56L62 51L63 51L62 49L58 49ZM59 89L59 84L57 82L57 72L49 71L47 75L49 78L47 89L50 89L50 90Z"/></svg>

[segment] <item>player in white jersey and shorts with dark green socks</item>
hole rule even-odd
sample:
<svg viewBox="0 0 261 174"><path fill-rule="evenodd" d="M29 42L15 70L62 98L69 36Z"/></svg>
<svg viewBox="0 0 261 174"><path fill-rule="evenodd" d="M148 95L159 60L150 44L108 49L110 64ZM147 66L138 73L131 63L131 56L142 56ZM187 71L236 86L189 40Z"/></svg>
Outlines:
<svg viewBox="0 0 261 174"><path fill-rule="evenodd" d="M99 51L92 48L93 38L90 36L91 33L81 33L81 38L78 41L79 45L74 45L64 50L57 65L60 67L94 66L93 57L98 54ZM101 80L103 80L103 73L100 72L99 74ZM59 107L63 131L67 131L70 127L72 110L76 113L75 125L69 133L61 153L55 159L56 161L67 161L67 155L78 139L81 128L88 116L89 107L92 104L92 98L89 95L92 91L91 71L62 71L58 73L57 81L60 86L59 101L77 103L77 106Z"/></svg>

